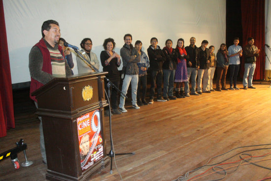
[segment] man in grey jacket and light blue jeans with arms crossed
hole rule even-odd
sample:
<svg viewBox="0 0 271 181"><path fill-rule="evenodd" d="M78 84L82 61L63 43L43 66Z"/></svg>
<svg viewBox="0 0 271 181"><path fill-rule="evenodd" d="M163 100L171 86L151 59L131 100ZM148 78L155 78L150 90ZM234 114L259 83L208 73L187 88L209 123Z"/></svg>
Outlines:
<svg viewBox="0 0 271 181"><path fill-rule="evenodd" d="M123 67L125 68L125 77L122 82L122 92L126 95L129 88L130 82L132 87L132 106L135 109L140 109L136 104L136 92L137 92L137 83L138 83L138 67L137 64L140 62L140 55L138 54L135 47L132 44L132 35L126 34L124 36L125 44L120 49L120 56L122 58ZM127 112L124 108L125 97L121 94L119 110L122 112Z"/></svg>

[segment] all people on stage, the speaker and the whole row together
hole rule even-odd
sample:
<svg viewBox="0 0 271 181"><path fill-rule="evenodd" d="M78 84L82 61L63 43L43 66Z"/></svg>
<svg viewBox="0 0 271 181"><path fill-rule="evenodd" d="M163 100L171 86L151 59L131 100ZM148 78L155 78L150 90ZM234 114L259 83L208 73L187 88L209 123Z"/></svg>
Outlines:
<svg viewBox="0 0 271 181"><path fill-rule="evenodd" d="M31 94L51 81L54 77L69 76L73 72L73 61L70 50L64 46L65 39L61 38L59 23L54 20L47 20L41 26L42 38L33 46L29 54L29 70L31 75L30 97L38 108L35 96ZM217 70L216 90L228 90L225 79L228 67L230 69L230 89L238 90L237 74L240 67L240 57L243 55L245 60L245 71L243 77L243 88L252 88L252 78L256 68L256 57L260 50L253 45L254 39L249 37L248 44L242 48L238 46L239 38L234 38L234 45L227 51L226 44L222 43L215 56L214 46L209 46L207 40L203 40L201 47L195 45L196 38L190 38L190 45L184 47L184 39L177 40L177 45L172 48L172 40L167 39L165 47L161 49L158 39L152 37L150 46L147 49L148 56L142 51L142 42L137 40L135 47L132 45L132 35L124 36L125 44L120 50L120 55L114 51L115 42L112 38L107 38L103 42L104 50L100 54L101 64L104 72L108 72L106 77L110 79L116 87L120 84L120 73L118 67L123 63L122 92L126 95L128 87L132 86L132 105L135 109L139 106L153 104L155 87L157 86L157 101L166 102L177 98L199 95L204 92L210 93L213 89L213 75ZM95 53L91 52L92 40L84 38L80 43L82 56L85 61L77 56L78 73L95 72L99 69L99 60ZM120 59L122 57L122 62ZM151 87L150 99L146 101L147 70L149 69ZM196 81L198 77L198 82ZM190 93L189 80L192 81ZM164 89L162 96L162 81ZM174 82L176 82L175 96L173 95ZM198 89L196 91L196 84ZM203 87L202 87L203 85ZM222 86L220 86L222 85ZM107 91L107 86L105 86ZM121 95L118 105L118 92L111 90L112 112L120 114L127 112L125 109L125 97ZM106 114L110 114L109 109ZM43 138L42 120L40 119L40 149L43 163L47 164L46 152Z"/></svg>

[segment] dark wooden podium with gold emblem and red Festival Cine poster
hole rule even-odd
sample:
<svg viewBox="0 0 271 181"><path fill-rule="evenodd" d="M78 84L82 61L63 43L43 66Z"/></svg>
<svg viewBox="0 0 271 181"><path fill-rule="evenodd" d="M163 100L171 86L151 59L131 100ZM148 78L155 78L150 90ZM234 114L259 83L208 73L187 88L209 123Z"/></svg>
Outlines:
<svg viewBox="0 0 271 181"><path fill-rule="evenodd" d="M84 181L109 162L103 117L106 73L56 77L32 93L42 117L47 180Z"/></svg>

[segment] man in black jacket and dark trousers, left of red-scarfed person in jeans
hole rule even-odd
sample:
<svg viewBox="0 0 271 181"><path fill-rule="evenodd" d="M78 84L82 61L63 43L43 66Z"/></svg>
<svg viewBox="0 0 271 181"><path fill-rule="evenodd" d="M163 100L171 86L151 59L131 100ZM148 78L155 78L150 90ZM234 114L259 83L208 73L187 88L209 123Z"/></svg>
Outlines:
<svg viewBox="0 0 271 181"><path fill-rule="evenodd" d="M151 38L151 45L148 48L148 56L150 60L150 74L151 74L151 88L150 88L150 101L149 104L153 104L153 96L155 84L157 83L157 101L165 102L167 100L162 98L162 81L163 81L163 63L166 61L166 57L160 46L157 46L158 39L156 37Z"/></svg>

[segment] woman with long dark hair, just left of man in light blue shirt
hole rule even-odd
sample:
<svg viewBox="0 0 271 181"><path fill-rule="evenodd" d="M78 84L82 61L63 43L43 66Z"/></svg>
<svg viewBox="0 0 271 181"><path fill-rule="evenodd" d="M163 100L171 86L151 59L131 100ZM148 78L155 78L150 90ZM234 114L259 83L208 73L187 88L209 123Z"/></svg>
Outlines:
<svg viewBox="0 0 271 181"><path fill-rule="evenodd" d="M228 90L226 88L226 75L228 67L229 67L228 50L226 44L222 43L220 45L219 50L216 53L216 71L217 71L216 89L215 89L216 91Z"/></svg>

